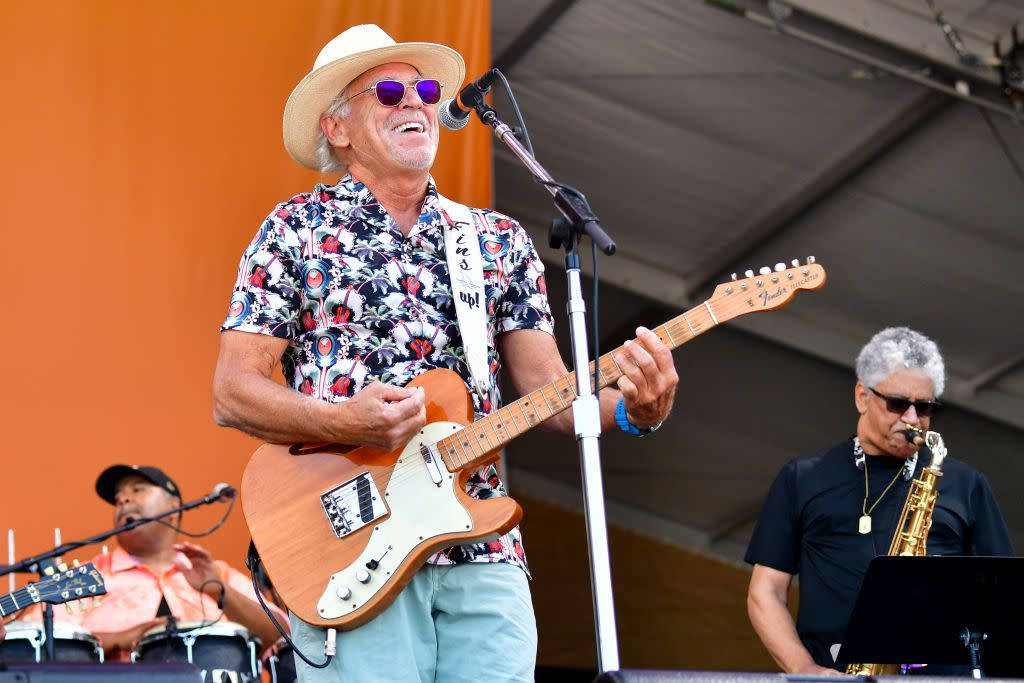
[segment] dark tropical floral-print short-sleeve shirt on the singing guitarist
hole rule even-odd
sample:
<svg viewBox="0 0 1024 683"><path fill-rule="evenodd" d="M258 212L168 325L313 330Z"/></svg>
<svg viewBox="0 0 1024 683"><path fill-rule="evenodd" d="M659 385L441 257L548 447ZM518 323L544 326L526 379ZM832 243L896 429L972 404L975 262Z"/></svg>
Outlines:
<svg viewBox="0 0 1024 683"><path fill-rule="evenodd" d="M493 388L485 396L471 390L444 250L449 217L432 179L408 237L351 176L280 204L242 256L221 330L287 339L285 381L331 402L371 382L404 385L428 370L455 371L479 419L501 407L497 336L552 334L553 323L544 265L529 236L498 212L472 213L486 292ZM467 490L476 498L506 495L494 466L475 472ZM450 548L430 561L505 561L525 569L518 529L488 544Z"/></svg>

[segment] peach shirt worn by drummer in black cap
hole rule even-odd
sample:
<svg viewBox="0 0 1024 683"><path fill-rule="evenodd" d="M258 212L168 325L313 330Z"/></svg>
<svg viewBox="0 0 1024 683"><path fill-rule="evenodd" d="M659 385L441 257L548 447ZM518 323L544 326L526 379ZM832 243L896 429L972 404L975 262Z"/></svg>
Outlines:
<svg viewBox="0 0 1024 683"><path fill-rule="evenodd" d="M103 575L106 595L99 598L98 606L92 606L92 600L81 600L80 604L84 607L84 611L76 603L69 603L73 610L71 614L58 605L53 610L55 621L77 624L90 633L124 631L156 617L161 597L167 598L171 613L179 622L203 620L212 622L220 616L217 601L193 588L184 574L173 564L158 577L150 567L122 548L117 548L105 555L96 555L91 562ZM216 560L214 564L217 577L224 586L230 586L256 602L256 593L247 574L233 569L221 560ZM270 602L267 604L279 622L288 624L288 615L284 611ZM41 618L38 606L29 610L25 618ZM263 646L272 644L263 643ZM108 660L127 660L130 656L130 651L118 650L109 652Z"/></svg>

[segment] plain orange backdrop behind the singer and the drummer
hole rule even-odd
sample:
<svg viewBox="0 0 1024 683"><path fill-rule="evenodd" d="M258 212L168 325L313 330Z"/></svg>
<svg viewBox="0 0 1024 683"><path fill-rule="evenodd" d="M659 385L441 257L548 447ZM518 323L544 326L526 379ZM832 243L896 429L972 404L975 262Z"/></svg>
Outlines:
<svg viewBox="0 0 1024 683"><path fill-rule="evenodd" d="M0 3L0 529L18 556L55 526L106 528L92 486L112 463L158 465L185 500L239 483L257 442L216 427L210 397L238 259L275 203L335 179L286 154L288 94L362 23L451 45L478 75L489 20L487 0ZM489 205L489 148L480 125L442 133L442 191ZM241 567L241 506L201 543Z"/></svg>

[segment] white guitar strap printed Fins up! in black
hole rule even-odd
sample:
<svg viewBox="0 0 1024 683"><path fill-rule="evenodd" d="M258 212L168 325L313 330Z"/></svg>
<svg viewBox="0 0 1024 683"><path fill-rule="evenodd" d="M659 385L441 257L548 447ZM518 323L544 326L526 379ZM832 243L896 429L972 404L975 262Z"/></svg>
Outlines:
<svg viewBox="0 0 1024 683"><path fill-rule="evenodd" d="M487 364L486 290L483 288L483 261L480 240L473 226L475 211L437 196L444 212L444 252L452 278L452 297L459 317L459 331L466 349L466 364L473 377L473 388L485 397L490 390Z"/></svg>

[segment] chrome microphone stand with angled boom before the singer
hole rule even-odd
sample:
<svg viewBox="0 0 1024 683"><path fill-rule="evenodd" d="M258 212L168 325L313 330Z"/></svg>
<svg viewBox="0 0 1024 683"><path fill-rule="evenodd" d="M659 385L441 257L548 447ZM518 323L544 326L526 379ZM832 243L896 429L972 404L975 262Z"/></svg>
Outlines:
<svg viewBox="0 0 1024 683"><path fill-rule="evenodd" d="M580 282L578 246L586 233L601 251L611 255L615 244L601 229L597 216L579 193L554 180L534 156L516 139L515 132L503 123L482 97L474 110L480 121L490 126L495 136L526 166L534 177L547 187L555 199L555 207L564 219L551 225L549 244L565 250L565 275L568 281L569 333L572 343L572 366L575 370L577 397L572 401L572 421L580 447L584 483L584 517L590 549L591 586L594 596L594 617L597 631L598 671L618 669L618 643L615 636L615 608L611 590L611 564L608 555L607 522L604 514L604 487L601 480L601 410L591 387L590 356L587 349L587 307Z"/></svg>

